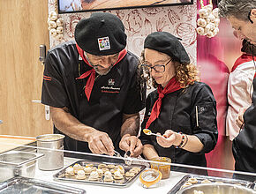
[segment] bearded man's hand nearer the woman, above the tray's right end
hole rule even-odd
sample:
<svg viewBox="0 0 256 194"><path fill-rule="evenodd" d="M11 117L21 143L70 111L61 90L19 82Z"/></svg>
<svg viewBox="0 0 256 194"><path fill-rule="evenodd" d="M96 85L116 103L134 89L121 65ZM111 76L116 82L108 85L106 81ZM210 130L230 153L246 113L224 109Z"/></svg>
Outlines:
<svg viewBox="0 0 256 194"><path fill-rule="evenodd" d="M125 134L120 143L119 147L121 150L125 152L130 151L132 157L137 157L142 153L142 144L136 136L130 136L129 134Z"/></svg>

